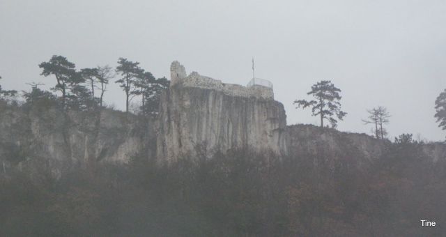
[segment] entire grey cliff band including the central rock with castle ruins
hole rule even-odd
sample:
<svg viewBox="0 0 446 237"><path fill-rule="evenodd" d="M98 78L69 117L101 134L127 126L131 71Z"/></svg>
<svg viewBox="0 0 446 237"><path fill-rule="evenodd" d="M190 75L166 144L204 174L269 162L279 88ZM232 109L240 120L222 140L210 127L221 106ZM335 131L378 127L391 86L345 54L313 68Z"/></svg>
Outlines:
<svg viewBox="0 0 446 237"><path fill-rule="evenodd" d="M240 86L198 72L187 76L178 62L171 65L171 81L157 120L99 108L64 116L54 106L0 101L0 168L6 173L33 163L60 176L72 167L127 163L134 155L172 162L233 148L364 167L391 144L314 125L287 126L284 106L268 83ZM423 144L422 150L433 162L446 159L445 144Z"/></svg>

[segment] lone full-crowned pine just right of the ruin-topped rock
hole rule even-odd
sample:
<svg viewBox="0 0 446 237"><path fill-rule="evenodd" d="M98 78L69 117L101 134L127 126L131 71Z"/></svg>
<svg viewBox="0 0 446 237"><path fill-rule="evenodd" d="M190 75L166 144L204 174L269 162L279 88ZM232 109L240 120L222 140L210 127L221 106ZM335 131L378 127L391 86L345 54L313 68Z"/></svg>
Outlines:
<svg viewBox="0 0 446 237"><path fill-rule="evenodd" d="M298 107L305 109L306 107L312 107L312 115L320 116L321 128L323 128L323 120L327 119L332 128L337 127L337 119L343 120L347 115L346 112L341 111L341 92L340 89L334 86L330 81L321 81L312 86L312 91L309 91L307 95L313 95L316 100L295 100L293 104L297 104ZM334 116L337 119L334 119Z"/></svg>

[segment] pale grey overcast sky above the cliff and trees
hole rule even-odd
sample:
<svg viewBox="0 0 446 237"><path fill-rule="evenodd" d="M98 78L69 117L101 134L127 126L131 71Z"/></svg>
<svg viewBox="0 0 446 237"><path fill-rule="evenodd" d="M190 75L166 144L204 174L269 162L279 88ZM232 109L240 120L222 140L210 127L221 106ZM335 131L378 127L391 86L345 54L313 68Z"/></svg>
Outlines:
<svg viewBox="0 0 446 237"><path fill-rule="evenodd" d="M29 91L29 82L54 86L38 64L66 56L77 68L139 61L168 77L171 61L187 73L247 84L274 84L287 123L317 124L309 99L320 80L341 89L348 113L338 129L371 134L366 109L387 107L390 138L413 133L444 140L434 102L446 89L446 1L114 1L0 0L0 83ZM125 107L111 84L109 105Z"/></svg>

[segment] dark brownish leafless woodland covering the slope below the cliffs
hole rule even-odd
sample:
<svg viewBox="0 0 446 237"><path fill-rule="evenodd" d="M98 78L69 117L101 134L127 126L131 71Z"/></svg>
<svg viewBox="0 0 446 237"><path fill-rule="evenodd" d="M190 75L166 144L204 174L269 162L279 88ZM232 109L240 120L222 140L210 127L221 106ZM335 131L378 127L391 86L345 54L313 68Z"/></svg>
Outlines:
<svg viewBox="0 0 446 237"><path fill-rule="evenodd" d="M231 151L0 180L0 236L441 236L446 164L401 135L351 160Z"/></svg>

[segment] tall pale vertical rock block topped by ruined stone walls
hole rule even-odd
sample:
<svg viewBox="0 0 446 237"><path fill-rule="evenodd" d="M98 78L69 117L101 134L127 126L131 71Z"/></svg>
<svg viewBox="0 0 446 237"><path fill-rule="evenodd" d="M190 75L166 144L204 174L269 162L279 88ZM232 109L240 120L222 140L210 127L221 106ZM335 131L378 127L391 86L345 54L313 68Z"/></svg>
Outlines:
<svg viewBox="0 0 446 237"><path fill-rule="evenodd" d="M172 63L172 84L162 95L157 158L226 152L231 148L286 153L286 114L272 89L223 84Z"/></svg>

